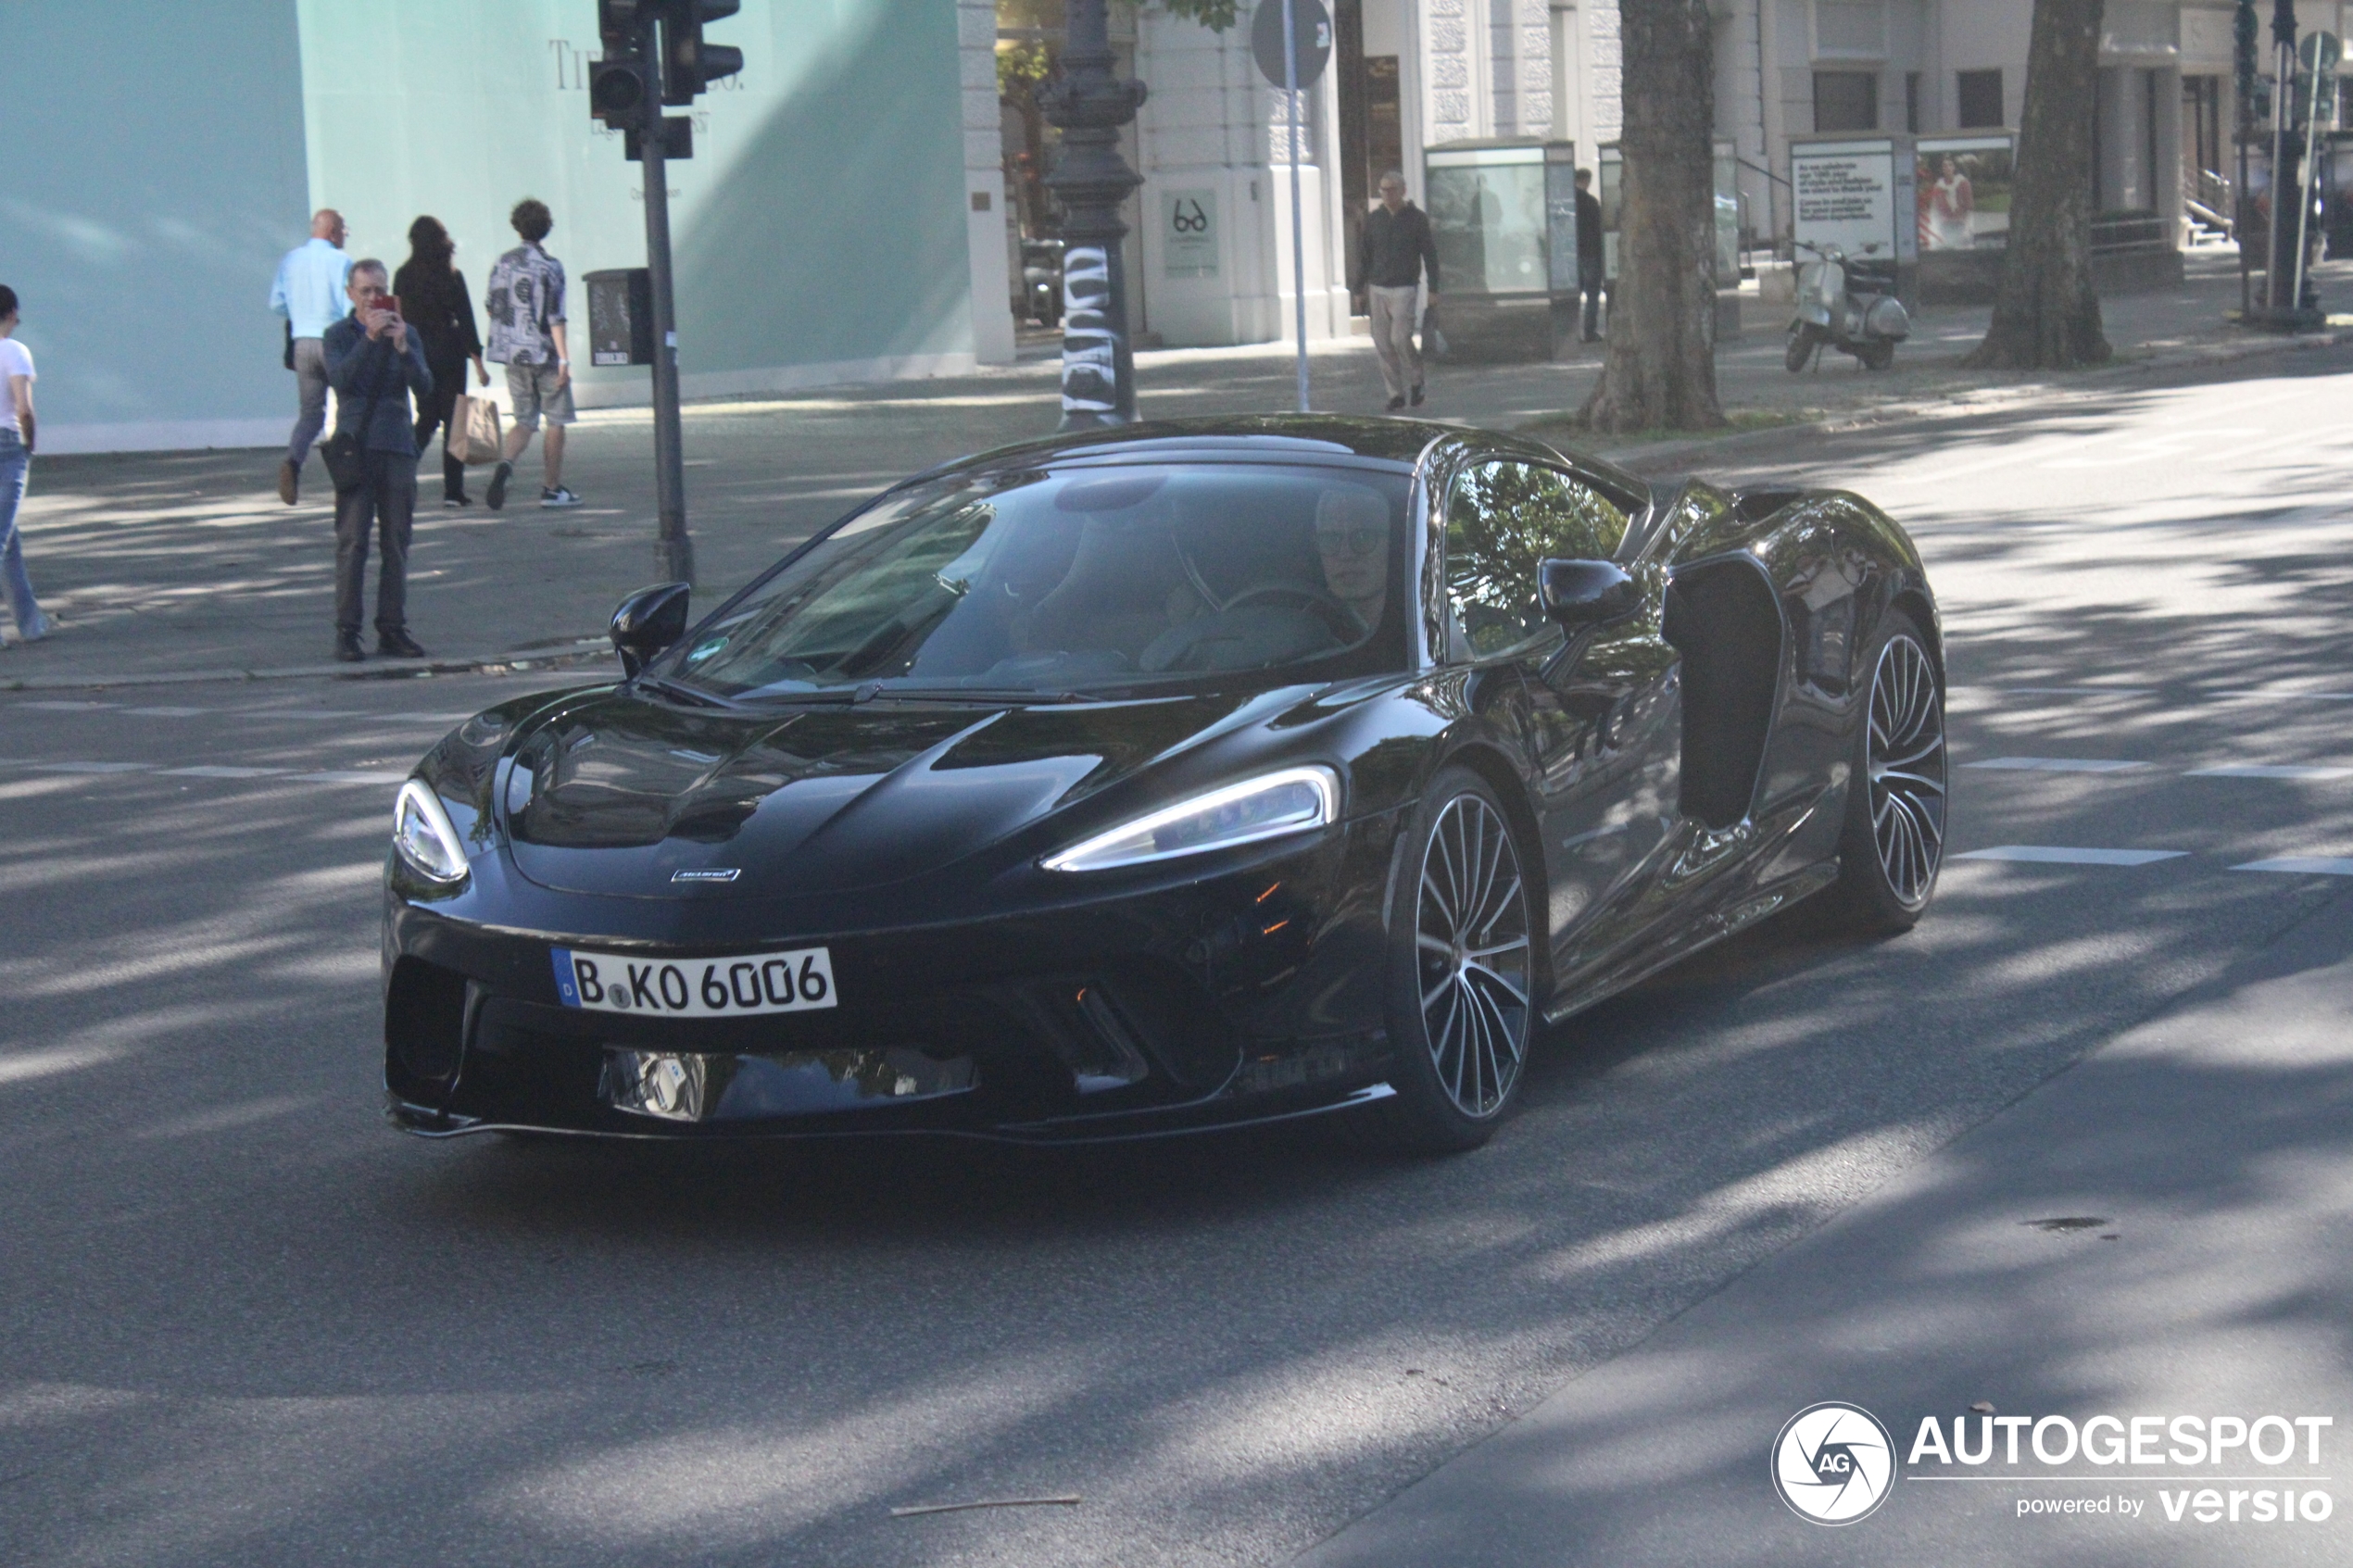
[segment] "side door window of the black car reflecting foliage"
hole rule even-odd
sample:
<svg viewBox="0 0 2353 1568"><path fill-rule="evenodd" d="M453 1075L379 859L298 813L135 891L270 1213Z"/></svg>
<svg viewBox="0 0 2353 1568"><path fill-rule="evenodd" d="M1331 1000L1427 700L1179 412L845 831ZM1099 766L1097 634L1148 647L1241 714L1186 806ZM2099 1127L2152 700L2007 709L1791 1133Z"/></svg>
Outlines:
<svg viewBox="0 0 2353 1568"><path fill-rule="evenodd" d="M1544 559L1609 559L1626 512L1558 468L1480 463L1447 496L1447 609L1452 658L1492 658L1541 637L1551 621L1537 592Z"/></svg>

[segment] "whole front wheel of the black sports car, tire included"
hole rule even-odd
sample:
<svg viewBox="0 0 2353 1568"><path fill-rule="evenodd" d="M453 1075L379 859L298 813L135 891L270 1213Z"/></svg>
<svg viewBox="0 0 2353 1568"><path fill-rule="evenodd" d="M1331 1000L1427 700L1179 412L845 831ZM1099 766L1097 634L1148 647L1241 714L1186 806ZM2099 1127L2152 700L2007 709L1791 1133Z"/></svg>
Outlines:
<svg viewBox="0 0 2353 1568"><path fill-rule="evenodd" d="M1454 1154L1494 1135L1534 1037L1534 912L1504 802L1471 769L1445 769L1407 823L1391 905L1384 1145Z"/></svg>

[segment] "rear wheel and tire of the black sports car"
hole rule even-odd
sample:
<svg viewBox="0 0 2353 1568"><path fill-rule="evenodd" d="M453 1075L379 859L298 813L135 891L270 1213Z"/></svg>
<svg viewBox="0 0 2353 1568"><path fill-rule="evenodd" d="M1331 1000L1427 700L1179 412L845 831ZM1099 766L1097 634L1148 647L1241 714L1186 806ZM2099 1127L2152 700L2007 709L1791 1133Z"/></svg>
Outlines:
<svg viewBox="0 0 2353 1568"><path fill-rule="evenodd" d="M1927 635L1901 609L1887 611L1866 668L1838 882L1821 900L1838 931L1894 936L1927 912L1944 865L1944 682Z"/></svg>

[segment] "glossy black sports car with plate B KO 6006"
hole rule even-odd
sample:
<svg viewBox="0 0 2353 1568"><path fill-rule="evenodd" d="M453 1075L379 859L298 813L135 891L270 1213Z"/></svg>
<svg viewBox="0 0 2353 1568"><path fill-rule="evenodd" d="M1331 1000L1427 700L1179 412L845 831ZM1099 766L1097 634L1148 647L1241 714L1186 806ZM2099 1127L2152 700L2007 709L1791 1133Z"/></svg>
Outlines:
<svg viewBox="0 0 2353 1568"><path fill-rule="evenodd" d="M426 1135L1482 1143L1541 1025L1817 900L1927 907L1937 602L1840 491L1388 418L911 477L402 785Z"/></svg>

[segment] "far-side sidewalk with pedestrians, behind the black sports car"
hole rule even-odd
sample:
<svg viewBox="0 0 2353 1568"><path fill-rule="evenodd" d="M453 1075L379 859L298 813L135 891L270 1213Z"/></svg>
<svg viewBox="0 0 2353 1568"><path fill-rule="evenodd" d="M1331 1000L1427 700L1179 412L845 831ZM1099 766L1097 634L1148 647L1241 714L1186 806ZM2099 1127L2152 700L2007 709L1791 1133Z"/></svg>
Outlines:
<svg viewBox="0 0 2353 1568"><path fill-rule="evenodd" d="M1885 374L1826 355L1819 371L1781 367L1781 313L1748 303L1746 331L1718 360L1727 411L1762 425L1748 442L1791 440L1788 425L1920 418L1937 411L2031 407L2122 386L2162 369L2308 348L2224 322L2238 306L2235 259L2202 252L2179 292L2106 306L2118 364L2080 376L1988 376L1958 360L1988 310L1925 313ZM2322 299L2346 299L2353 263L2320 270ZM1706 465L1741 437L1595 444L1560 428L1598 374L1598 350L1553 364L1438 364L1431 418L1532 428L1638 468ZM1318 407L1379 411L1381 383L1362 339L1313 353ZM974 376L859 386L685 411L687 505L701 597L722 595L809 529L918 468L1052 430L1059 367L1033 360ZM1146 350L1136 355L1141 411L1191 416L1292 404L1292 357L1280 346ZM66 630L0 651L0 691L89 684L169 684L235 677L414 675L419 665L329 663L334 520L325 470L306 496L273 494L271 451L42 456L24 505L26 559ZM645 409L591 411L574 425L565 480L588 505L546 512L539 458L525 454L506 512L442 510L435 463L424 465L409 557L412 632L428 668L607 668L602 628L614 602L654 581L652 421ZM487 470L473 480L475 494Z"/></svg>

